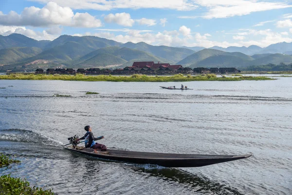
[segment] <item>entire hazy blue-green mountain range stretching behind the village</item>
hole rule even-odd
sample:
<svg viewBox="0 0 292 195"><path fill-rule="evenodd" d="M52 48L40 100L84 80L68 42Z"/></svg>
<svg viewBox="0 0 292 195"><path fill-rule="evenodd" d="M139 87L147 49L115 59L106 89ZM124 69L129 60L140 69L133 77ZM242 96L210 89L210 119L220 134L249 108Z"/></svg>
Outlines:
<svg viewBox="0 0 292 195"><path fill-rule="evenodd" d="M292 43L261 48L169 47L145 42L120 43L95 36L62 35L55 40L35 40L20 34L0 36L0 72L33 71L38 67L119 68L133 61L181 64L184 67L246 67L292 63Z"/></svg>

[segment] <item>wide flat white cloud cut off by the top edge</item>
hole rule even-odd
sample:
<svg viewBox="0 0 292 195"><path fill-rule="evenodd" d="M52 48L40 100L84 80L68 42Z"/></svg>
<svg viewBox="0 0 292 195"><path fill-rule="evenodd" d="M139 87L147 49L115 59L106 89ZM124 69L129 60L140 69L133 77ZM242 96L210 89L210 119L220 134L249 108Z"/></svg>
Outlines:
<svg viewBox="0 0 292 195"><path fill-rule="evenodd" d="M34 0L41 3L54 1L63 7L73 9L94 9L94 10L112 10L112 9L141 9L158 8L173 10L193 10L198 6L195 2L187 0Z"/></svg>

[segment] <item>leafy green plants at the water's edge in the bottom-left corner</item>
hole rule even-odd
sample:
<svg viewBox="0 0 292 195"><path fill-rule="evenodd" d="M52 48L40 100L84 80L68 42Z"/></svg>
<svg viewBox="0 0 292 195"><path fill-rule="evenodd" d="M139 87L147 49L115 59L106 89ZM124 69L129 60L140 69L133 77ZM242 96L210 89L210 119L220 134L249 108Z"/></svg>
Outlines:
<svg viewBox="0 0 292 195"><path fill-rule="evenodd" d="M12 163L20 163L19 160L11 159L10 156L0 153L0 167ZM0 194L2 195L54 195L52 190L43 190L30 184L26 179L15 178L9 175L0 176Z"/></svg>

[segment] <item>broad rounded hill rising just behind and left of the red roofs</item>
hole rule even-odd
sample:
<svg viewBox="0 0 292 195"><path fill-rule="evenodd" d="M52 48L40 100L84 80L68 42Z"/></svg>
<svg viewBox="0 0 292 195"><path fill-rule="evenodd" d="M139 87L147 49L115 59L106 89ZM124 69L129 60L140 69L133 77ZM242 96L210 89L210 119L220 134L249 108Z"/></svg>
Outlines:
<svg viewBox="0 0 292 195"><path fill-rule="evenodd" d="M130 61L128 63L128 61ZM133 62L131 61L161 61L168 62L166 59L162 59L152 54L130 49L130 48L120 48L120 47L107 47L95 50L85 56L82 56L78 59L75 59L71 62L74 66L83 65L83 66L108 66L108 65L122 65L131 66ZM70 62L68 62L68 65ZM123 65L123 66L124 66Z"/></svg>

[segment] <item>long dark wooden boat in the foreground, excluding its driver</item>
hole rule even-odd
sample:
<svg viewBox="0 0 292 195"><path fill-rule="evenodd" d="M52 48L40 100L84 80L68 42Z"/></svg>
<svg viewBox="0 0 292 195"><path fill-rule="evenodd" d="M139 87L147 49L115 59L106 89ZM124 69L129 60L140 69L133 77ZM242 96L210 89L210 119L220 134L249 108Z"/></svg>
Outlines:
<svg viewBox="0 0 292 195"><path fill-rule="evenodd" d="M150 152L134 152L122 150L110 150L106 152L99 151L97 154L90 148L84 147L64 147L67 150L81 153L84 155L94 156L105 160L139 163L139 164L155 164L163 167L201 167L221 162L248 158L252 154L247 155L192 155L192 154L169 154L169 153L150 153Z"/></svg>

